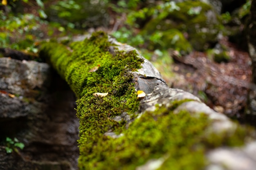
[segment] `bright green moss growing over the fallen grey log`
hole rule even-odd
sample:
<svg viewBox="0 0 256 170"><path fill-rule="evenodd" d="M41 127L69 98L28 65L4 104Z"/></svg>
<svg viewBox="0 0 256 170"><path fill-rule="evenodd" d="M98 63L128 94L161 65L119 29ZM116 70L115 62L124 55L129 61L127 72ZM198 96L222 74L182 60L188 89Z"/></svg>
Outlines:
<svg viewBox="0 0 256 170"><path fill-rule="evenodd" d="M112 48L108 36L98 32L69 47L45 43L40 51L78 97L81 170L134 170L152 159L162 159L159 169L197 170L206 165L204 154L208 147L233 141L234 136L236 144L243 143L243 130L239 135L234 132L219 136L222 142L215 143L214 133L205 133L211 124L205 115L191 117L186 110L173 114L177 106L190 99L173 101L169 107L156 106L155 111L135 118L139 99L129 72L140 68L143 60L135 51L113 52ZM94 93L108 95L101 97ZM122 113L135 119L128 128L126 121L114 120ZM106 132L115 133L117 137L110 137Z"/></svg>

